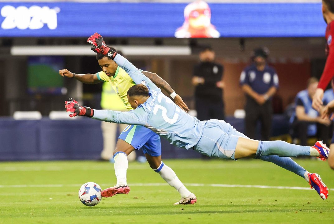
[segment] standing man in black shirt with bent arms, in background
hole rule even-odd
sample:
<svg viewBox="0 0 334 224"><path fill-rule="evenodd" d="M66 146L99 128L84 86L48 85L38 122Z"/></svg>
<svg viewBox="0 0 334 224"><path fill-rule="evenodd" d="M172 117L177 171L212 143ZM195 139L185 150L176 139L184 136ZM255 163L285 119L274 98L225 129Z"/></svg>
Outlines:
<svg viewBox="0 0 334 224"><path fill-rule="evenodd" d="M205 46L199 53L200 63L195 65L192 84L195 86L195 107L199 120L225 120L222 81L224 67L215 63L215 52Z"/></svg>

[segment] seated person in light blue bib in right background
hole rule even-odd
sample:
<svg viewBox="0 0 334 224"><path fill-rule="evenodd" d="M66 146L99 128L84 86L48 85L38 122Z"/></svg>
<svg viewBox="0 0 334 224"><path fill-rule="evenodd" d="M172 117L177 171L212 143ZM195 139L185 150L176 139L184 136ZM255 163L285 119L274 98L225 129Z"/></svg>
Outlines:
<svg viewBox="0 0 334 224"><path fill-rule="evenodd" d="M290 122L295 135L300 139L300 145L307 145L307 138L312 136L317 136L328 144L330 120L322 119L319 112L312 108L312 98L318 82L317 78L311 77L307 89L300 91L295 99L296 110Z"/></svg>

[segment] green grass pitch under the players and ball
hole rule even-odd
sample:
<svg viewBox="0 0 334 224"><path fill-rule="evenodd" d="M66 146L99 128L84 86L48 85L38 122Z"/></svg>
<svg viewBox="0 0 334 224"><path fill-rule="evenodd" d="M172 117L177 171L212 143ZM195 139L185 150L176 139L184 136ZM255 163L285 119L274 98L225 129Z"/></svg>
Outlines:
<svg viewBox="0 0 334 224"><path fill-rule="evenodd" d="M147 163L130 163L129 195L103 198L88 207L78 199L86 182L115 184L109 162L0 163L0 223L334 223L334 171L326 162L296 160L317 172L331 189L322 200L301 177L260 160L164 160L197 196L180 199ZM188 183L188 185L187 185ZM154 185L157 186L149 186ZM216 184L216 185L213 185ZM227 186L224 186L227 185ZM229 185L241 185L228 187ZM258 188L244 185L302 187Z"/></svg>

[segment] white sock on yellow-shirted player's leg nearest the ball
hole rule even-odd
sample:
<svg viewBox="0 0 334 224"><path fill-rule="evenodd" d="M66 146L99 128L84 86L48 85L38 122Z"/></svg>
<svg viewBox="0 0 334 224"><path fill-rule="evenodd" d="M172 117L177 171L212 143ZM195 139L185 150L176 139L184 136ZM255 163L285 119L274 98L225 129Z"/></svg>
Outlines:
<svg viewBox="0 0 334 224"><path fill-rule="evenodd" d="M114 168L117 179L116 185L128 185L126 182L126 171L128 169L128 158L124 152L118 152L114 156Z"/></svg>

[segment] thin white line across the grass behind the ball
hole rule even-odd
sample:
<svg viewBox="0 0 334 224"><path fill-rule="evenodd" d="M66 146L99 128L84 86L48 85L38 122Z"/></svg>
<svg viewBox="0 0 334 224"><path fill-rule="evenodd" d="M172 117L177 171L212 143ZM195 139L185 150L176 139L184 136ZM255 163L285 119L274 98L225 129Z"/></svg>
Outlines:
<svg viewBox="0 0 334 224"><path fill-rule="evenodd" d="M110 184L100 184L110 185ZM192 187L240 187L240 188L268 188L268 189L292 189L292 190L311 190L309 187L288 187L288 186L266 186L266 185L241 185L241 184L184 184ZM31 184L31 185L0 185L0 188L26 188L26 187L80 187L81 184ZM134 183L129 186L168 186L165 183ZM334 191L334 188L329 189Z"/></svg>

